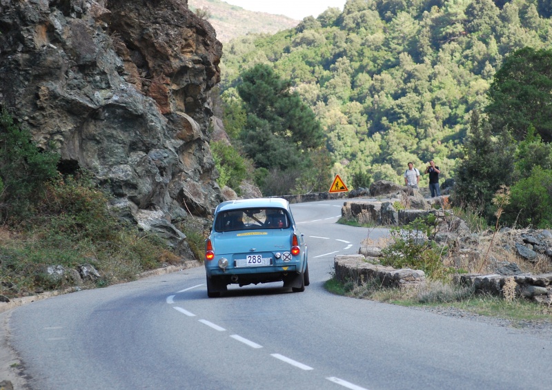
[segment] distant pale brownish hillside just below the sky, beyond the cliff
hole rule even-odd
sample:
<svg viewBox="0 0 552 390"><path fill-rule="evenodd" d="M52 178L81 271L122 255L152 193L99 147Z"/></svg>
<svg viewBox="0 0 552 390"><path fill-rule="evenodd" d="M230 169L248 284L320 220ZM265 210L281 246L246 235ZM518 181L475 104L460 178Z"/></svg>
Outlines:
<svg viewBox="0 0 552 390"><path fill-rule="evenodd" d="M299 24L298 20L284 15L248 11L221 0L188 0L188 7L194 12L203 12L222 43L248 34L274 34Z"/></svg>

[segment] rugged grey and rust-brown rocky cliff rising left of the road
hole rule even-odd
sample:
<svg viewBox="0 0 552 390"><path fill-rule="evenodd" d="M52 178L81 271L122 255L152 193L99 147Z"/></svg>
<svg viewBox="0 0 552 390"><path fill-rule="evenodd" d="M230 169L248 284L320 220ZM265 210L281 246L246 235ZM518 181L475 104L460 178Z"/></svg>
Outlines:
<svg viewBox="0 0 552 390"><path fill-rule="evenodd" d="M0 106L115 195L121 215L171 222L221 202L208 91L222 46L187 0L0 0Z"/></svg>

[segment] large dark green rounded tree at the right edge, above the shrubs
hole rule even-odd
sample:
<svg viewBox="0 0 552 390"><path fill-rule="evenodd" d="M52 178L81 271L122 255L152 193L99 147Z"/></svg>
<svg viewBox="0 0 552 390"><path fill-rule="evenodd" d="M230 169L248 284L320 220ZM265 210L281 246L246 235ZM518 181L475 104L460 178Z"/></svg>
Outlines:
<svg viewBox="0 0 552 390"><path fill-rule="evenodd" d="M515 139L530 124L545 142L552 141L552 50L523 48L506 58L489 88L486 108L495 132L504 126Z"/></svg>

